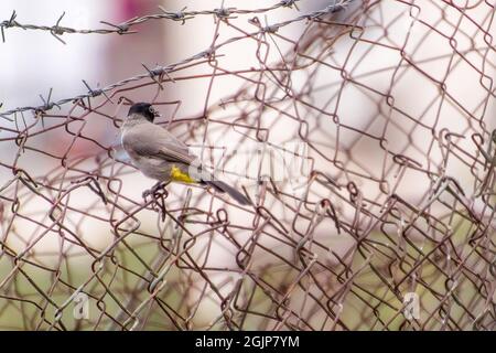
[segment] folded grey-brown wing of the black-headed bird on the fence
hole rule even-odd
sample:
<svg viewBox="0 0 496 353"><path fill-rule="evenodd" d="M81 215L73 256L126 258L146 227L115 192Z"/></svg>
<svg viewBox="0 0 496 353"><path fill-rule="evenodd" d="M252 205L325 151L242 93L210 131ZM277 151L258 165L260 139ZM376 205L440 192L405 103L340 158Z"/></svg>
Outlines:
<svg viewBox="0 0 496 353"><path fill-rule="evenodd" d="M141 157L163 159L169 162L191 164L196 156L187 146L157 125L137 126L123 138L125 149Z"/></svg>

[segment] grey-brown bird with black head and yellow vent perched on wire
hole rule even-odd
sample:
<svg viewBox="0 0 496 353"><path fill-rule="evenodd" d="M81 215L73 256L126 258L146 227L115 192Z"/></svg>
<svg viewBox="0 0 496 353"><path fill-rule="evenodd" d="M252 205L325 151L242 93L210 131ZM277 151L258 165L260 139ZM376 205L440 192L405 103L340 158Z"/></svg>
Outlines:
<svg viewBox="0 0 496 353"><path fill-rule="evenodd" d="M144 175L161 183L171 181L212 186L227 192L242 205L249 200L228 184L214 180L213 174L202 168L197 157L190 153L187 146L171 132L153 124L160 116L151 104L137 103L129 109L121 127L121 142L132 163Z"/></svg>

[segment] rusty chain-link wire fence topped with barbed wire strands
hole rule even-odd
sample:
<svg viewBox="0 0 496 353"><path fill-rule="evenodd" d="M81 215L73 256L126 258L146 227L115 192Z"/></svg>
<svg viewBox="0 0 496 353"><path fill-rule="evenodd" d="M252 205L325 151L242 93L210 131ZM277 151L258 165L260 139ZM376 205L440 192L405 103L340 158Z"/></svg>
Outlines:
<svg viewBox="0 0 496 353"><path fill-rule="evenodd" d="M213 15L215 35L179 63L1 114L2 150L14 151L0 160L1 328L495 329L494 3L341 1L306 14L295 4L79 31ZM292 20L271 22L280 8ZM58 22L36 29L78 32ZM1 26L8 40L25 25L13 14ZM231 45L252 65L233 68ZM211 101L223 77L240 88ZM171 99L184 82L204 84L197 115ZM96 133L118 135L138 97L186 142L299 141L312 170L298 191L259 172L245 185L255 207L184 185L143 201L129 179L139 172ZM74 156L78 143L96 152ZM80 292L85 320L73 317ZM420 300L410 320L408 293Z"/></svg>

